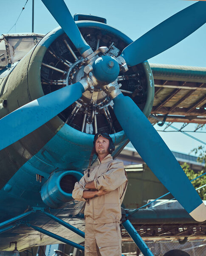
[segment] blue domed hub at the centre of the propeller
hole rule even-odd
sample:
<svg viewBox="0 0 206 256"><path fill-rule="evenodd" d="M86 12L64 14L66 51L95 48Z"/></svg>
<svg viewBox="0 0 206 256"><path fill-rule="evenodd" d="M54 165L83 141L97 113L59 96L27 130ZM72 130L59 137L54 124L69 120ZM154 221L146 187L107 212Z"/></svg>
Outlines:
<svg viewBox="0 0 206 256"><path fill-rule="evenodd" d="M111 83L119 75L119 64L111 56L101 56L93 62L93 73L99 81Z"/></svg>

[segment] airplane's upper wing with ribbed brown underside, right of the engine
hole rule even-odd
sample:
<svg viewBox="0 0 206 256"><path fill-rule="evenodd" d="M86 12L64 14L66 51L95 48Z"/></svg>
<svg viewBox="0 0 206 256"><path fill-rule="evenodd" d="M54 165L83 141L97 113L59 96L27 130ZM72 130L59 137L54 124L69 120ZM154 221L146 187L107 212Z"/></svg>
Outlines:
<svg viewBox="0 0 206 256"><path fill-rule="evenodd" d="M206 67L150 64L155 82L152 114L167 122L206 123ZM150 122L156 123L150 118Z"/></svg>

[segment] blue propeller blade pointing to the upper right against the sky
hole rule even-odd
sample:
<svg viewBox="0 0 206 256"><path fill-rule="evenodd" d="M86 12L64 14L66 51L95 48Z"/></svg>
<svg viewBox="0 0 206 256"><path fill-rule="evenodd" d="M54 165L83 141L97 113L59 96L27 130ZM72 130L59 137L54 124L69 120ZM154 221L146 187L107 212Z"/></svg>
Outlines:
<svg viewBox="0 0 206 256"><path fill-rule="evenodd" d="M195 32L206 23L206 3L198 2L164 20L121 53L128 66L146 61Z"/></svg>

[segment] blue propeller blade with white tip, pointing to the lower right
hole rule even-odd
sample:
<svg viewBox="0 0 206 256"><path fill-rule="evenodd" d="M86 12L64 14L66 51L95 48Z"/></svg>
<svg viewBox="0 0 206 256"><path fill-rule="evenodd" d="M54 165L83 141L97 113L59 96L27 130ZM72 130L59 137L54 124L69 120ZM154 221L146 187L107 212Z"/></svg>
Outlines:
<svg viewBox="0 0 206 256"><path fill-rule="evenodd" d="M152 172L193 218L206 220L203 201L144 113L130 97L119 94L113 101L121 127Z"/></svg>

